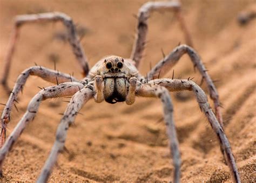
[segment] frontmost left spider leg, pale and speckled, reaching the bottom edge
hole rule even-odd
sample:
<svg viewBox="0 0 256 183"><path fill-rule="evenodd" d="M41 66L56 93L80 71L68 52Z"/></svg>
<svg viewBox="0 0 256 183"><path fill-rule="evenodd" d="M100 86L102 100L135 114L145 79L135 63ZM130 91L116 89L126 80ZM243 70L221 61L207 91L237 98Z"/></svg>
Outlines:
<svg viewBox="0 0 256 183"><path fill-rule="evenodd" d="M93 88L84 88L80 91L77 91L75 95L70 100L68 107L64 112L64 116L62 117L58 129L56 132L56 140L52 146L50 155L46 160L44 167L42 168L41 174L39 175L37 182L46 182L50 177L53 166L56 164L57 157L59 152L61 152L64 148L64 143L66 140L67 132L69 126L75 121L75 118L80 109L82 109L83 105L93 97Z"/></svg>

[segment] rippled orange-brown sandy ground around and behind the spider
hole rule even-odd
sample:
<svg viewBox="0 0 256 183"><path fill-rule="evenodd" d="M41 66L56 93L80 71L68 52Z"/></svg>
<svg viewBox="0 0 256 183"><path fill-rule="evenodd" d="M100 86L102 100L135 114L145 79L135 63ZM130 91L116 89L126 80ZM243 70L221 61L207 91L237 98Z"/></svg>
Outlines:
<svg viewBox="0 0 256 183"><path fill-rule="evenodd" d="M146 1L0 1L0 74L6 53L12 18L24 13L62 11L70 15L85 36L82 40L90 66L104 55L129 57L139 7ZM256 181L256 19L245 26L237 23L241 10L250 8L249 0L182 1L186 23L194 47L203 59L220 93L224 109L225 132L230 140L242 182ZM254 5L255 6L255 5ZM153 13L149 37L140 71L149 71L150 62L162 58L179 42L184 43L179 24L173 13ZM21 39L12 62L9 85L19 73L38 65L75 73L82 78L70 46L59 40L65 30L60 23L22 27ZM191 61L185 55L175 69L176 78L194 77ZM170 68L171 75L172 68ZM168 74L166 76L169 76ZM30 77L19 95L19 112L12 112L8 135L26 110L30 99L39 91L37 86L51 83ZM205 85L203 85L206 90ZM8 95L0 86L0 103ZM190 92L171 94L174 118L182 158L182 182L231 182L218 140L200 112ZM35 181L51 145L66 103L63 98L42 103L37 117L23 132L4 163L0 181ZM0 108L1 110L3 107ZM76 125L68 133L69 153L60 154L50 181L117 181L164 182L173 174L169 158L165 125L160 101L138 98L132 106L125 103L96 104L88 102Z"/></svg>

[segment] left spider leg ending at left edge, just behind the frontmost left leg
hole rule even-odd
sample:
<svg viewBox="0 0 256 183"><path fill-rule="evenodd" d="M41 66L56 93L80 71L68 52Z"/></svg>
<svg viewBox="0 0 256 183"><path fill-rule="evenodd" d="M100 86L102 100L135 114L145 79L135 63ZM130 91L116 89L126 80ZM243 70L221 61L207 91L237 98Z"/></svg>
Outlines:
<svg viewBox="0 0 256 183"><path fill-rule="evenodd" d="M43 100L46 100L48 98L72 96L77 91L79 91L78 87L83 88L84 85L78 82L61 83L57 86L48 87L45 88L45 90L43 89L39 91L32 98L22 119L18 122L14 131L11 132L10 136L7 138L6 142L0 150L0 173L2 173L3 161L6 154L11 150L12 145L14 145L18 137L25 129L26 124L28 124L33 118L35 118L39 108L39 104Z"/></svg>

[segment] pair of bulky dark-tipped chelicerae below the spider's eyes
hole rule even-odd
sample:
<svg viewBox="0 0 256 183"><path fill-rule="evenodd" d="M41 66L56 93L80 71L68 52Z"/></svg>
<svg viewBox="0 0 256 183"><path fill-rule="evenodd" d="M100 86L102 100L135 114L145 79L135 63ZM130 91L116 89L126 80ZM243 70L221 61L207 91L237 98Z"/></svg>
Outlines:
<svg viewBox="0 0 256 183"><path fill-rule="evenodd" d="M105 78L104 98L108 103L124 102L127 95L125 78Z"/></svg>

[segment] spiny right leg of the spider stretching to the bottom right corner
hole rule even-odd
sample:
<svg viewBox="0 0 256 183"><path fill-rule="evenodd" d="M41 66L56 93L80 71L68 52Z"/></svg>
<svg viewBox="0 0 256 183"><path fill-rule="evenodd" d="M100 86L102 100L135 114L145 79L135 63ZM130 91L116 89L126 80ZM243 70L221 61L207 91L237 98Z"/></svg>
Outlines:
<svg viewBox="0 0 256 183"><path fill-rule="evenodd" d="M188 80L180 79L157 79L150 81L149 84L155 83L156 85L163 86L169 91L181 91L181 90L192 90L197 97L197 102L200 109L204 112L205 116L208 119L208 122L211 124L212 129L217 134L219 139L221 149L224 151L224 158L227 160L227 164L230 167L230 172L232 174L234 182L241 182L239 178L239 172L237 165L235 164L235 159L231 151L230 143L225 135L223 127L219 124L217 118L215 117L210 104L207 101L207 96L196 83Z"/></svg>

